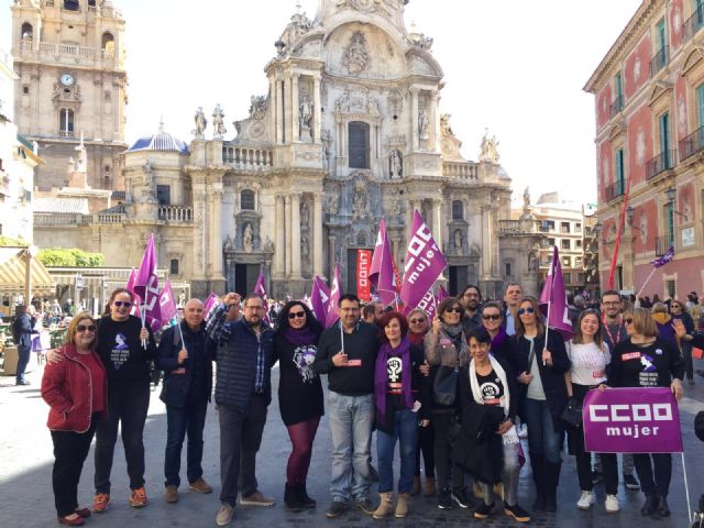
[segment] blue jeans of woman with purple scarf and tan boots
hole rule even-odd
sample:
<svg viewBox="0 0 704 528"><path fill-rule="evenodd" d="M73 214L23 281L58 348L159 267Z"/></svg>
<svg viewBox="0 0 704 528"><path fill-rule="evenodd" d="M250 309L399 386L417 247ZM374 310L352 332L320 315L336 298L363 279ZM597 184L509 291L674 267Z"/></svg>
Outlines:
<svg viewBox="0 0 704 528"><path fill-rule="evenodd" d="M394 413L394 431L388 435L376 431L376 455L378 458L378 493L394 491L394 451L398 440L400 476L398 493L410 493L416 469L416 444L418 443L418 413L409 409Z"/></svg>

